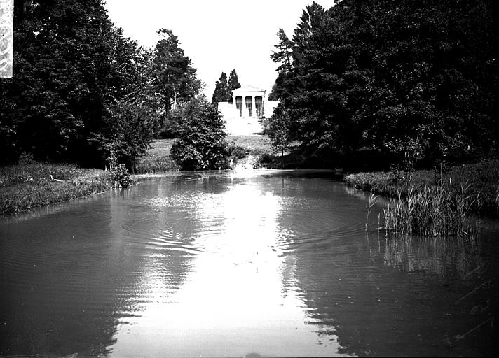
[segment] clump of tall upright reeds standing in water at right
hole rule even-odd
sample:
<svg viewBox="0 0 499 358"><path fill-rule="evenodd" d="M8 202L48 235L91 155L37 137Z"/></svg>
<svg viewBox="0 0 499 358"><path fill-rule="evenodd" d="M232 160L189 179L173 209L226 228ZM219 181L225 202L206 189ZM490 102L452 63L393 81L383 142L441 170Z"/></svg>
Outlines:
<svg viewBox="0 0 499 358"><path fill-rule="evenodd" d="M433 237L467 235L474 229L470 213L478 211L481 202L480 194L472 193L469 184L456 190L451 180L421 189L399 189L383 210L385 230L387 234Z"/></svg>

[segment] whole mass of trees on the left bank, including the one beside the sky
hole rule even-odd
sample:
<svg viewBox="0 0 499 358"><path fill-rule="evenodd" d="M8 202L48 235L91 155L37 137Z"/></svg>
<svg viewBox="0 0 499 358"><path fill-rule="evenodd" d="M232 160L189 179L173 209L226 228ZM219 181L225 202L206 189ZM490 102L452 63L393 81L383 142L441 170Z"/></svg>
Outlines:
<svg viewBox="0 0 499 358"><path fill-rule="evenodd" d="M140 48L102 0L15 1L13 78L0 79L0 164L133 166L170 109L200 92L172 31ZM152 36L152 34L151 34Z"/></svg>

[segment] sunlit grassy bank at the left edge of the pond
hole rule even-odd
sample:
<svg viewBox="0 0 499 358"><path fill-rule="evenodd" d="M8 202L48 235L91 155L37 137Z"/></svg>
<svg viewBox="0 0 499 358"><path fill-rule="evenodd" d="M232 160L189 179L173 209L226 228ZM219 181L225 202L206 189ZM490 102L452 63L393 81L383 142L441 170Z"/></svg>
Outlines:
<svg viewBox="0 0 499 358"><path fill-rule="evenodd" d="M112 187L108 179L97 169L21 160L0 168L0 215L104 192Z"/></svg>

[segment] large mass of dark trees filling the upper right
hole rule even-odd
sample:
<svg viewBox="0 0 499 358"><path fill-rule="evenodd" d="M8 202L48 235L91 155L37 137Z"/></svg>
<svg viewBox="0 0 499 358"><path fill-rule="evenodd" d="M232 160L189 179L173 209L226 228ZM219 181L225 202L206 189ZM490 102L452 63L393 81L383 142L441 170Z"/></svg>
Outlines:
<svg viewBox="0 0 499 358"><path fill-rule="evenodd" d="M312 3L271 56L274 141L411 162L498 155L498 1ZM344 157L343 157L344 158ZM338 159L338 158L337 158ZM341 160L341 159L338 159Z"/></svg>

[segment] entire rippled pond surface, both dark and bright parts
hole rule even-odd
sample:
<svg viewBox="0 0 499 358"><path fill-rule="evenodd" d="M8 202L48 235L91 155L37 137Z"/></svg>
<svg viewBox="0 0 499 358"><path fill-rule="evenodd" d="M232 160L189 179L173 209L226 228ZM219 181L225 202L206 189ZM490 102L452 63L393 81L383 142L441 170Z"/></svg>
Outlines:
<svg viewBox="0 0 499 358"><path fill-rule="evenodd" d="M494 355L498 225L387 239L366 203L319 171L205 172L1 218L0 355Z"/></svg>

